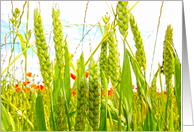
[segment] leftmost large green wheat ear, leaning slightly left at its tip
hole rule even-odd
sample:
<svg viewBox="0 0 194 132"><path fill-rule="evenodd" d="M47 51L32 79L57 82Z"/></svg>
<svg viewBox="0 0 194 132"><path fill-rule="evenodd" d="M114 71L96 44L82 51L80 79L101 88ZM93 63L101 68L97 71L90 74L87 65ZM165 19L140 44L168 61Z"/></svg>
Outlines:
<svg viewBox="0 0 194 132"><path fill-rule="evenodd" d="M34 30L36 38L36 48L38 51L38 58L40 62L40 70L44 80L44 86L49 88L51 78L51 62L48 52L48 46L46 44L46 37L44 35L44 24L38 9L34 10Z"/></svg>

